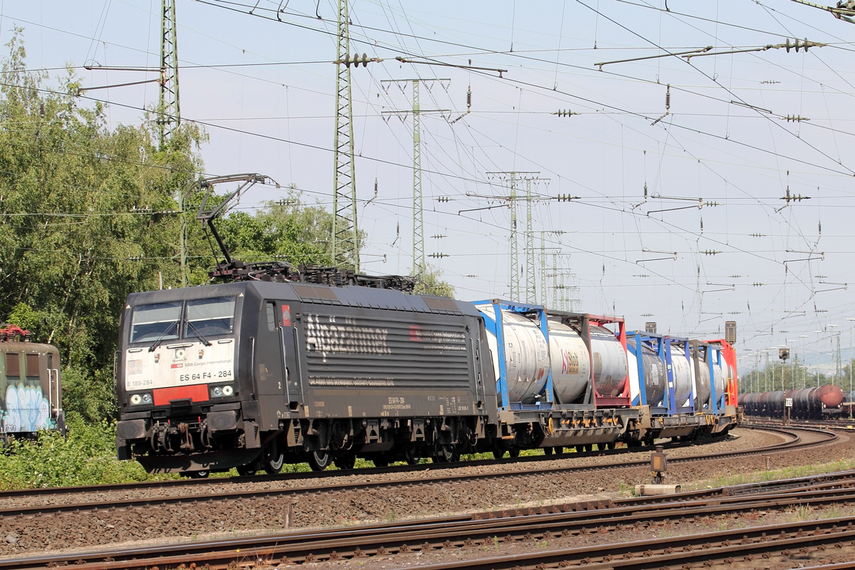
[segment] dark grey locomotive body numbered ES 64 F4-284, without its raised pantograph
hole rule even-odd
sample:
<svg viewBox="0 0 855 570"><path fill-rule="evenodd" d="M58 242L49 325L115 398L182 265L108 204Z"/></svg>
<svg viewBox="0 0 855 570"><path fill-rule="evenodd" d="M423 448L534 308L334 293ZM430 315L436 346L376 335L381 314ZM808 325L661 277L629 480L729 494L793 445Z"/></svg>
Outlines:
<svg viewBox="0 0 855 570"><path fill-rule="evenodd" d="M444 297L262 281L136 293L118 455L202 476L451 461L494 435L489 355L479 312Z"/></svg>

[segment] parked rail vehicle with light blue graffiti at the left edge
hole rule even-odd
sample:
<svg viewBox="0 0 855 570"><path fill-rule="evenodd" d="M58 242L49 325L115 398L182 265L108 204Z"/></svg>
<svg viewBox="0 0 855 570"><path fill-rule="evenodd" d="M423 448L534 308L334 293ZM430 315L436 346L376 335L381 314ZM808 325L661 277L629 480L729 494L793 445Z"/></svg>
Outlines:
<svg viewBox="0 0 855 570"><path fill-rule="evenodd" d="M30 332L0 325L0 439L65 432L59 351L30 342Z"/></svg>

